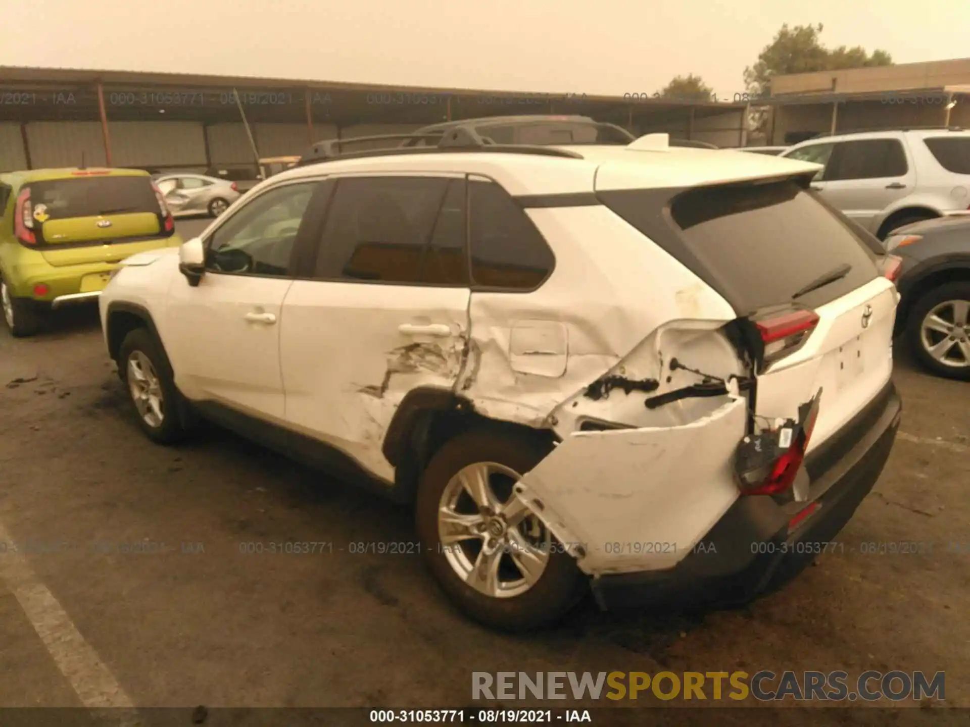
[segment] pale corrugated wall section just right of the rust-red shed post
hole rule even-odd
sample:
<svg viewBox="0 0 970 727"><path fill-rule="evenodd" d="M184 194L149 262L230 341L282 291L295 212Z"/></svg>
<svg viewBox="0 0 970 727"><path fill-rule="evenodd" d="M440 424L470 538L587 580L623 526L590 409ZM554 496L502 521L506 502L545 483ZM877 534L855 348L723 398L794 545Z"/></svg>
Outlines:
<svg viewBox="0 0 970 727"><path fill-rule="evenodd" d="M108 132L115 167L206 167L197 121L113 121Z"/></svg>

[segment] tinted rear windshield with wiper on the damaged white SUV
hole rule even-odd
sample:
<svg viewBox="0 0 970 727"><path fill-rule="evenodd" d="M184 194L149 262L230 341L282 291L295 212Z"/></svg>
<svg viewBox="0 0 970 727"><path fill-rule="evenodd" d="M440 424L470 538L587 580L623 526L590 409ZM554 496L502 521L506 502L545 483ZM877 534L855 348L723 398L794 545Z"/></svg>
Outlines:
<svg viewBox="0 0 970 727"><path fill-rule="evenodd" d="M655 190L600 193L603 203L718 291L738 315L789 302L849 264L841 279L797 298L810 307L877 276L876 254L845 219L794 181L720 185L666 200ZM663 206L669 205L669 216Z"/></svg>

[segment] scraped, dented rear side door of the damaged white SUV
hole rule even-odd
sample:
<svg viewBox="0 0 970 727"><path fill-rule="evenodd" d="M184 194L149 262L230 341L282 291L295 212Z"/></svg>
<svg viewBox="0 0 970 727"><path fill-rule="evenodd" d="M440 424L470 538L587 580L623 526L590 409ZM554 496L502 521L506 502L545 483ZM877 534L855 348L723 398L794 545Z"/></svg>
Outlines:
<svg viewBox="0 0 970 727"><path fill-rule="evenodd" d="M453 390L465 363L466 181L330 178L310 279L296 280L283 302L286 423L392 481L381 448L404 395Z"/></svg>

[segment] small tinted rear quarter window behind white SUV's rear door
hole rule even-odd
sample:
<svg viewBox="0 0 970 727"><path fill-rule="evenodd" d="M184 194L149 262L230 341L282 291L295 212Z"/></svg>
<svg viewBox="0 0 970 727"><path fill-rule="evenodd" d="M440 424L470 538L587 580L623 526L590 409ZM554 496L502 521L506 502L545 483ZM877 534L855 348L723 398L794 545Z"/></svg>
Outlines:
<svg viewBox="0 0 970 727"><path fill-rule="evenodd" d="M471 278L476 285L533 290L556 265L515 200L494 182L469 182Z"/></svg>

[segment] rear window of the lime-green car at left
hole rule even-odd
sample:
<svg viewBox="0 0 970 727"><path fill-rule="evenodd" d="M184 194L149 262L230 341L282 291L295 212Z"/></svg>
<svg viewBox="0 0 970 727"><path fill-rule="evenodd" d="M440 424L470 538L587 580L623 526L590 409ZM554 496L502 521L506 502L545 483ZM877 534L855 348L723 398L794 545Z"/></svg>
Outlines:
<svg viewBox="0 0 970 727"><path fill-rule="evenodd" d="M158 200L147 176L81 176L30 183L34 210L45 205L48 219L99 214L158 214Z"/></svg>

